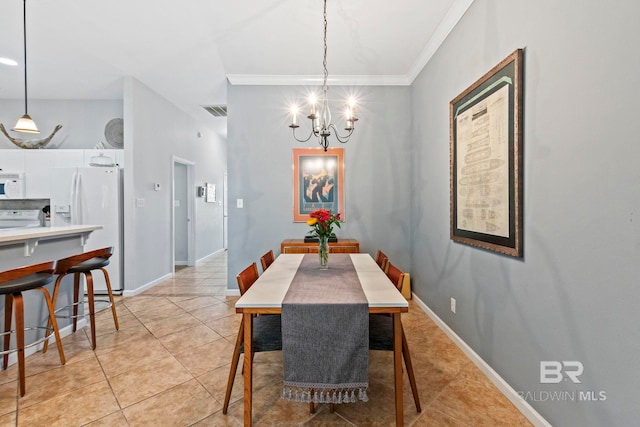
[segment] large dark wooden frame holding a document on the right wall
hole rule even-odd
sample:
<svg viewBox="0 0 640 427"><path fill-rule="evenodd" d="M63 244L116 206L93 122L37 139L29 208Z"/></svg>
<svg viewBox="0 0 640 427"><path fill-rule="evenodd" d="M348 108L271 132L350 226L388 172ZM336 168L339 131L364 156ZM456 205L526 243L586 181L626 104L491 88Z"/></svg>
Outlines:
<svg viewBox="0 0 640 427"><path fill-rule="evenodd" d="M449 103L451 239L523 257L523 56Z"/></svg>

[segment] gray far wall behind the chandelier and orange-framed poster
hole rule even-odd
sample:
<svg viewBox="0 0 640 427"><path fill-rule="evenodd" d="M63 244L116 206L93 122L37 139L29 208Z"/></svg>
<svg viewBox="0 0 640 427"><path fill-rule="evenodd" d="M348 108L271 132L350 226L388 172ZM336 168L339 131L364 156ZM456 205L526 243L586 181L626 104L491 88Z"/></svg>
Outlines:
<svg viewBox="0 0 640 427"><path fill-rule="evenodd" d="M316 140L296 142L288 128L287 105L309 88L292 86L228 87L229 278L286 238L309 230L293 222L292 149L318 147ZM401 267L409 267L410 123L408 87L331 87L334 117L343 95L361 99L359 128L345 149L346 223L338 238L355 238L362 252L381 248ZM300 120L300 117L298 117ZM341 123L339 120L338 123ZM308 120L304 120L308 121ZM343 124L343 123L342 123ZM301 129L309 129L307 123ZM302 132L300 133L302 134ZM236 208L236 199L244 208Z"/></svg>

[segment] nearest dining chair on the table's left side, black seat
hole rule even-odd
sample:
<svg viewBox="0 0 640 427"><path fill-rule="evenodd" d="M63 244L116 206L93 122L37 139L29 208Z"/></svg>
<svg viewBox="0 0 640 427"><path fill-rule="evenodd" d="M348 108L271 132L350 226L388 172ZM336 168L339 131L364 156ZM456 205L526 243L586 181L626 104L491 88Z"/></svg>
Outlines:
<svg viewBox="0 0 640 427"><path fill-rule="evenodd" d="M240 295L245 292L258 280L258 266L252 263L236 276ZM264 351L280 351L282 350L282 324L279 314L262 314L253 318L253 343L252 354L245 357L251 358L253 363L253 353ZM224 404L222 413L226 414L229 409L229 400L231 399L231 391L233 390L233 382L236 378L238 362L240 361L240 353L244 353L244 316L240 322L238 329L238 337L236 338L236 346L233 349L231 359L231 368L229 369L229 379L227 380L227 390L224 395Z"/></svg>

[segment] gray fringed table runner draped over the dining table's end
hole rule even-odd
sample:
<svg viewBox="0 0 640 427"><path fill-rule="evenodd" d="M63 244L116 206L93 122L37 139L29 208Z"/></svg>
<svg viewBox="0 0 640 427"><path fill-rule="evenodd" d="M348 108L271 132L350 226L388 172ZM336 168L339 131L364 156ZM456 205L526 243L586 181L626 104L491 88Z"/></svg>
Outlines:
<svg viewBox="0 0 640 427"><path fill-rule="evenodd" d="M282 302L282 397L367 401L369 305L348 254L305 255Z"/></svg>

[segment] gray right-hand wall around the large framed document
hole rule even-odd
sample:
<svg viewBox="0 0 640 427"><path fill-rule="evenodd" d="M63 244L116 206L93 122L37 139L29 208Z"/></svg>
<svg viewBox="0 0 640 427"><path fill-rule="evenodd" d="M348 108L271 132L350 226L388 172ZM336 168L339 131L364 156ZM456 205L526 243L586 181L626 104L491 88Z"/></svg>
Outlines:
<svg viewBox="0 0 640 427"><path fill-rule="evenodd" d="M413 290L515 390L606 393L528 400L554 425L640 416L638 17L631 1L476 0L412 86ZM520 47L522 260L449 240L449 102ZM582 382L540 384L546 360L582 362Z"/></svg>

